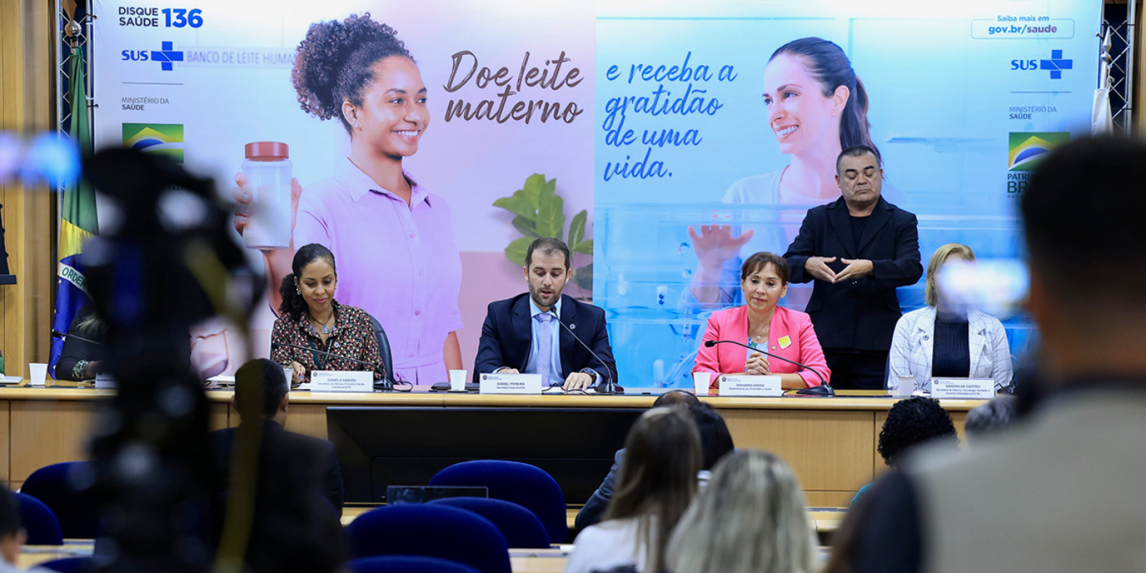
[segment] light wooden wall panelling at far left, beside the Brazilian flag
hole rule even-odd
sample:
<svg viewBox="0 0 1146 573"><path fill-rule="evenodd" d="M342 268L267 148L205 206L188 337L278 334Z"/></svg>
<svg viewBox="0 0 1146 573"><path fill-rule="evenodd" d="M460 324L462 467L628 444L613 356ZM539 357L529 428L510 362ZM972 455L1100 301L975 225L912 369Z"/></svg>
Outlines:
<svg viewBox="0 0 1146 573"><path fill-rule="evenodd" d="M45 0L0 0L0 129L54 126L54 13ZM0 182L8 266L18 284L0 286L0 352L9 375L46 362L52 330L53 202L48 190Z"/></svg>

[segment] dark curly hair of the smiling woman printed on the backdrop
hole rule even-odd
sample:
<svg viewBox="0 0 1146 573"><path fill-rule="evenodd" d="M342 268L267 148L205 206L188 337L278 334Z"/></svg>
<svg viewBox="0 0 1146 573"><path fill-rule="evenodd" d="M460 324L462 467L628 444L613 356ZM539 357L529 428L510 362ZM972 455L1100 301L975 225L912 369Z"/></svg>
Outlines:
<svg viewBox="0 0 1146 573"><path fill-rule="evenodd" d="M370 13L311 24L291 71L303 111L320 119L337 117L350 133L343 102L362 104L362 91L374 81L371 66L390 56L414 61L397 34L393 28L370 19Z"/></svg>

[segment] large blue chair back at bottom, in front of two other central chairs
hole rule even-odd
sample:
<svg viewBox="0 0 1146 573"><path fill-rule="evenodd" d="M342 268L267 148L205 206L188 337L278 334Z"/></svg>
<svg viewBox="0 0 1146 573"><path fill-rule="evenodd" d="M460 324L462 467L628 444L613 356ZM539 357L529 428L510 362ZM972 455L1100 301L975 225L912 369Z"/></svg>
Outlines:
<svg viewBox="0 0 1146 573"><path fill-rule="evenodd" d="M351 557L438 557L481 573L511 573L509 545L497 526L464 509L442 504L385 505L346 526Z"/></svg>

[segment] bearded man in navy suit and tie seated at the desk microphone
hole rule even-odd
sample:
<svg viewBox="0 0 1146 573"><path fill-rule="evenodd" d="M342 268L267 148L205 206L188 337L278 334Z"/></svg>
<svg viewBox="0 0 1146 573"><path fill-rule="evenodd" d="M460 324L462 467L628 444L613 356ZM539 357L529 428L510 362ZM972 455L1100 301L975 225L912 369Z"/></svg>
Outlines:
<svg viewBox="0 0 1146 573"><path fill-rule="evenodd" d="M539 238L529 244L525 254L529 292L489 304L473 364L474 382L479 375L493 372L540 374L543 386L562 385L564 390L589 388L605 379L617 382L605 311L563 296L568 280L570 250L564 241ZM568 329L557 323L555 312Z"/></svg>

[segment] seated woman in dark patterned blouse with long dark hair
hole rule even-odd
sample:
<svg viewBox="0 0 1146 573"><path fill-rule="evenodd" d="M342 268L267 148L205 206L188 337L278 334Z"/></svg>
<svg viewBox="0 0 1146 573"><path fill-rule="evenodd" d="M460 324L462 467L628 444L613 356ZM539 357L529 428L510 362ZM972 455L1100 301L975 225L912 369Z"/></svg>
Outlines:
<svg viewBox="0 0 1146 573"><path fill-rule="evenodd" d="M316 243L303 246L295 253L291 270L280 288L283 301L270 333L270 360L295 370L291 383L309 379L312 370L370 369L313 351L380 364L370 315L335 300L338 273L333 253ZM374 377L380 379L382 374L376 370Z"/></svg>

